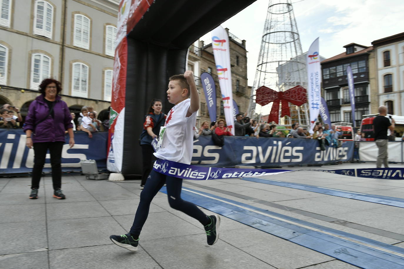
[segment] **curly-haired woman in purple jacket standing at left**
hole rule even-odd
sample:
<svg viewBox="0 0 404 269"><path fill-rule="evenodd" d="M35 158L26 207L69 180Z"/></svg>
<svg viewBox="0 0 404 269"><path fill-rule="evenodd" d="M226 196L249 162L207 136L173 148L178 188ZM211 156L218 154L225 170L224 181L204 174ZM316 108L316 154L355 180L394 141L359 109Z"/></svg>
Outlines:
<svg viewBox="0 0 404 269"><path fill-rule="evenodd" d="M65 131L69 133L70 148L74 146L73 125L67 104L58 96L61 84L55 79L44 79L39 85L41 93L30 105L25 118L24 131L27 147L34 147L34 168L29 199L38 198L39 181L45 164L46 152L50 152L52 166L53 197L65 199L61 191L61 158L65 143Z"/></svg>

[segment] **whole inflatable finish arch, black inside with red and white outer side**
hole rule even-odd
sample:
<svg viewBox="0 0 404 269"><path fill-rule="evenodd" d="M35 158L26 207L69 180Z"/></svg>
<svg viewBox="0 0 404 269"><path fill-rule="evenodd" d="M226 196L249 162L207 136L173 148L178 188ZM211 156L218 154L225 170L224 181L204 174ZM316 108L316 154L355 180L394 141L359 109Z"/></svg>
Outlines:
<svg viewBox="0 0 404 269"><path fill-rule="evenodd" d="M189 46L255 0L121 0L118 13L107 167L142 173L138 138L153 98L166 99L168 78L185 71ZM246 18L247 19L247 18Z"/></svg>

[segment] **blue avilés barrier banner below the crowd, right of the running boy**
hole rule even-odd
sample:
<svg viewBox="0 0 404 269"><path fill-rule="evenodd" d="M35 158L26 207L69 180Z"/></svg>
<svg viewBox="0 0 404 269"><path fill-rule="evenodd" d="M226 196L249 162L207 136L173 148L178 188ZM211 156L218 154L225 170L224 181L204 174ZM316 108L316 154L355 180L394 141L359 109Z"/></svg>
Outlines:
<svg viewBox="0 0 404 269"><path fill-rule="evenodd" d="M350 161L352 156L353 141L322 151L319 142L311 139L225 136L224 146L218 147L213 145L211 136L199 136L194 141L191 164L210 167L304 165Z"/></svg>

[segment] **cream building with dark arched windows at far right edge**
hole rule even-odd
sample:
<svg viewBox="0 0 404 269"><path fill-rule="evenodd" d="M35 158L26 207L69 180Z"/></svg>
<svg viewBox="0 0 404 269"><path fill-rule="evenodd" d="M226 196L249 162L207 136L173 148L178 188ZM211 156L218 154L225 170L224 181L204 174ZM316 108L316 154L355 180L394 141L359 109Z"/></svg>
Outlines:
<svg viewBox="0 0 404 269"><path fill-rule="evenodd" d="M377 96L387 113L404 116L404 33L372 42L375 50Z"/></svg>

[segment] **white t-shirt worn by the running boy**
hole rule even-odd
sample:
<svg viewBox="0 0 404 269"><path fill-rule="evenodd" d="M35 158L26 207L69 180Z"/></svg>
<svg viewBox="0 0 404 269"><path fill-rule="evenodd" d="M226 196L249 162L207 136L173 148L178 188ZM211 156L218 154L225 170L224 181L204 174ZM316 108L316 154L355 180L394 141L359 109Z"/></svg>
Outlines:
<svg viewBox="0 0 404 269"><path fill-rule="evenodd" d="M185 117L191 99L186 99L171 108L168 112L160 149L154 153L156 158L174 161L178 163L191 164L194 151L194 127L196 123L196 112ZM162 127L162 129L164 128Z"/></svg>

